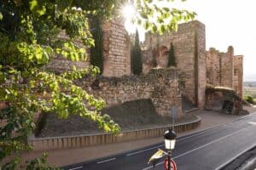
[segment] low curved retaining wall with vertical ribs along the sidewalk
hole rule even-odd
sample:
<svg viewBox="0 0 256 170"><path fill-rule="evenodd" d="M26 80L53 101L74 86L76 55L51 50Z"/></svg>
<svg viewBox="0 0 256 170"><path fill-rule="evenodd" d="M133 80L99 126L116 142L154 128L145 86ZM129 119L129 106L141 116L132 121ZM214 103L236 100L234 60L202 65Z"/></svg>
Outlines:
<svg viewBox="0 0 256 170"><path fill-rule="evenodd" d="M197 117L194 122L187 122L175 125L174 129L177 133L188 131L198 127L201 123L201 118ZM170 125L172 126L172 125ZM33 150L53 150L53 149L67 149L79 148L99 144L112 144L118 142L125 142L136 139L149 139L154 137L163 136L165 131L170 126L154 127L149 129L139 129L134 131L126 131L114 135L113 133L98 133L90 135L78 135L67 137L52 137L52 138L39 138L31 137L28 143L32 144Z"/></svg>

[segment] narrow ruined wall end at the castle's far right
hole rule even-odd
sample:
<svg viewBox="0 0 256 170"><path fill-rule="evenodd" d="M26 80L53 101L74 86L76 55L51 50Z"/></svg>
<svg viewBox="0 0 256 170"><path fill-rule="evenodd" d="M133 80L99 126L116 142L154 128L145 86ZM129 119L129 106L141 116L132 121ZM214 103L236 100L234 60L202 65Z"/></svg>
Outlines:
<svg viewBox="0 0 256 170"><path fill-rule="evenodd" d="M233 73L233 88L242 98L242 82L243 82L243 56L235 55L233 58L234 73Z"/></svg>

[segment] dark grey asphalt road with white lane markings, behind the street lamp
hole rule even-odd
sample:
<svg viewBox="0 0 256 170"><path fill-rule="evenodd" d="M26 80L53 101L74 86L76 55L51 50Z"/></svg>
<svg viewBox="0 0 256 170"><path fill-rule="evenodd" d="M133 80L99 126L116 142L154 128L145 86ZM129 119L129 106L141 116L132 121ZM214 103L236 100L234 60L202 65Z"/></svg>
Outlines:
<svg viewBox="0 0 256 170"><path fill-rule="evenodd" d="M254 145L256 145L256 114L178 138L175 150L172 152L172 159L176 161L178 170L221 169L226 163ZM71 165L64 169L162 170L164 159L160 160L156 167L147 164L149 157L158 148L165 150L164 144L159 143L140 150Z"/></svg>

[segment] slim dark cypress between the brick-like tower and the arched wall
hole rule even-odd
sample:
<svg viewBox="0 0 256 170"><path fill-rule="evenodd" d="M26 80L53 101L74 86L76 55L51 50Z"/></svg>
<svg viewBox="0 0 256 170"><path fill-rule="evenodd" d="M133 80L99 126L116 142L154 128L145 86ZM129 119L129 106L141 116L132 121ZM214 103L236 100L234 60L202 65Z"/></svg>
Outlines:
<svg viewBox="0 0 256 170"><path fill-rule="evenodd" d="M142 49L138 31L136 31L135 42L131 48L131 71L134 75L140 75L143 71Z"/></svg>

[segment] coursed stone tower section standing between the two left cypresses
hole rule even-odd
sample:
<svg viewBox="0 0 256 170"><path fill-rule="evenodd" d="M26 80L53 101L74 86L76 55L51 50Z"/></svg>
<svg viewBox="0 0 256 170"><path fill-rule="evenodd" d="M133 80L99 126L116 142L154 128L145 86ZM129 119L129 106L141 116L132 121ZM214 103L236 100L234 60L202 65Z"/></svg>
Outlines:
<svg viewBox="0 0 256 170"><path fill-rule="evenodd" d="M125 27L117 21L105 21L103 31L104 77L131 75L131 42Z"/></svg>

